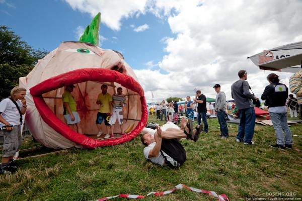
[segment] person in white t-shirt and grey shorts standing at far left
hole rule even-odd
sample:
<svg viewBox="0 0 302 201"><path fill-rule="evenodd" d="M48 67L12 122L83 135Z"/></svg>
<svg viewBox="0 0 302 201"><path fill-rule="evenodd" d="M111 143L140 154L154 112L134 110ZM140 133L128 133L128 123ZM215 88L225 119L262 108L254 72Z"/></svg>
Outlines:
<svg viewBox="0 0 302 201"><path fill-rule="evenodd" d="M11 90L11 97L0 102L0 132L4 136L0 174L8 174L17 169L13 157L22 143L22 115L27 109L25 94L25 88L15 86Z"/></svg>

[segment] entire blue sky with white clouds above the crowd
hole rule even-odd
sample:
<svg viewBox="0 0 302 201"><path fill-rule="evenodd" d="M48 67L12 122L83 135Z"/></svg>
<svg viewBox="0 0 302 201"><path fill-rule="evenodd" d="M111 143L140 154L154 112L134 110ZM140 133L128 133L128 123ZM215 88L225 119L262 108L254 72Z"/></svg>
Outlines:
<svg viewBox="0 0 302 201"><path fill-rule="evenodd" d="M194 95L215 97L221 85L231 99L237 72L260 96L272 71L248 56L302 41L302 1L0 0L5 24L34 48L51 51L76 41L101 12L100 46L120 51L135 70L148 102ZM292 73L278 72L288 85Z"/></svg>

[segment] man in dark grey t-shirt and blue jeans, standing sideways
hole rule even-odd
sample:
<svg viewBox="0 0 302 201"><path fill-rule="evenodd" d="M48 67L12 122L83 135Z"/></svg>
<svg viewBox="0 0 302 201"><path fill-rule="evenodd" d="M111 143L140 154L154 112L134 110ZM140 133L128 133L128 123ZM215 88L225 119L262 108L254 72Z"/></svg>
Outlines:
<svg viewBox="0 0 302 201"><path fill-rule="evenodd" d="M240 114L240 124L238 126L238 134L236 142L244 142L245 145L253 145L256 114L253 104L253 99L258 98L254 93L250 92L250 85L246 81L248 73L246 70L238 72L239 80L232 84L232 97L235 100L237 109Z"/></svg>

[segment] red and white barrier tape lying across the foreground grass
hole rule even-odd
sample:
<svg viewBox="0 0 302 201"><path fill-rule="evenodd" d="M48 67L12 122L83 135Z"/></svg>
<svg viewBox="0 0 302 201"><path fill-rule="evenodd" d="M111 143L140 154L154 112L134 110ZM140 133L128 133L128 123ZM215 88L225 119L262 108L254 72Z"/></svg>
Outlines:
<svg viewBox="0 0 302 201"><path fill-rule="evenodd" d="M197 188L193 188L193 187L188 187L188 186L180 183L177 186L173 187L172 189L166 190L166 191L163 191L163 192L149 192L147 195L118 194L118 195L115 195L115 196L103 197L103 198L97 199L96 201L104 201L104 200L112 199L112 198L115 198L115 197L125 197L125 198L138 199L138 198L145 198L146 196L149 196L149 195L152 195L152 194L154 194L156 196L162 196L162 195L165 195L165 194L169 194L169 193L173 192L174 190L182 189L182 188L187 188L191 191L198 192L198 193L210 194L214 197L217 197L219 201L228 201L229 200L228 196L226 196L225 194L217 195L217 193L214 192L214 191L201 190L201 189L197 189Z"/></svg>

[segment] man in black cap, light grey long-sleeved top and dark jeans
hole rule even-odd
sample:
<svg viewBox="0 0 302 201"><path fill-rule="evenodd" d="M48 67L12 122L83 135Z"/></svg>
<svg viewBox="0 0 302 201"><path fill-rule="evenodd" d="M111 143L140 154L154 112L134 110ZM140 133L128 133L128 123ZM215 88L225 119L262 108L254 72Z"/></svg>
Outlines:
<svg viewBox="0 0 302 201"><path fill-rule="evenodd" d="M215 84L213 88L216 91L216 99L215 99L215 111L216 116L218 119L218 123L220 125L220 136L221 138L228 138L229 137L229 130L228 126L226 125L225 121L225 108L226 108L226 99L225 99L225 93L223 91L220 91L220 84Z"/></svg>

